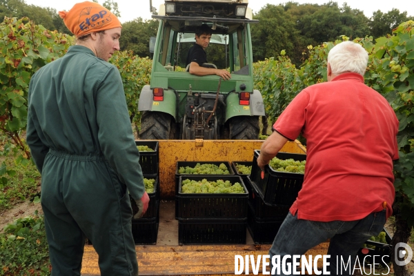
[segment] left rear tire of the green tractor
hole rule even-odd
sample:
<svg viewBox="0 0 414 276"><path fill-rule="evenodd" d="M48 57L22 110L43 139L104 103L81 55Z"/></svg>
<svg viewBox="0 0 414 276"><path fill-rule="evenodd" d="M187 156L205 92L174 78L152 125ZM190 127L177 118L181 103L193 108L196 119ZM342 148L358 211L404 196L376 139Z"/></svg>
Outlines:
<svg viewBox="0 0 414 276"><path fill-rule="evenodd" d="M141 117L139 139L176 139L175 121L165 112L144 111Z"/></svg>

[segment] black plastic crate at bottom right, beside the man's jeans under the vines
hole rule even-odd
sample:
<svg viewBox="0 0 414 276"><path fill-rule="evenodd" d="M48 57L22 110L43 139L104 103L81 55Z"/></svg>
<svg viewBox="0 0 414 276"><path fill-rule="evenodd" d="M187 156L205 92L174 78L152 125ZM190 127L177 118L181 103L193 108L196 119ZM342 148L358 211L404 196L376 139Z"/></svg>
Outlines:
<svg viewBox="0 0 414 276"><path fill-rule="evenodd" d="M366 245L374 246L374 248L362 247L358 250L358 258L362 260L366 257L366 262L373 264L373 256L381 256L375 257L375 262L380 264L383 267L386 267L386 264L391 262L391 235L388 231L384 228L382 231L385 232L385 240L386 244L381 242L373 242L368 239L365 242ZM385 256L385 257L384 257Z"/></svg>

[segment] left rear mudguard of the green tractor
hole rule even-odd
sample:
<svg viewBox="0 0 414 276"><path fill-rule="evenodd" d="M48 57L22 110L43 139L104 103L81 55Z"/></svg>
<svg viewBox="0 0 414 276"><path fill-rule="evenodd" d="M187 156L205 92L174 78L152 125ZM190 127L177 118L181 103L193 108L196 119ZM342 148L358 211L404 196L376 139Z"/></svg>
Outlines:
<svg viewBox="0 0 414 276"><path fill-rule="evenodd" d="M138 102L138 111L158 111L166 112L174 119L176 118L175 108L177 97L175 97L175 92L170 89L164 89L164 101L154 101L152 89L149 85L146 85L141 90L141 95L139 95Z"/></svg>

